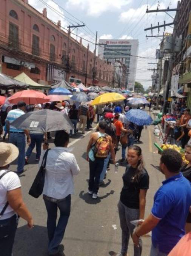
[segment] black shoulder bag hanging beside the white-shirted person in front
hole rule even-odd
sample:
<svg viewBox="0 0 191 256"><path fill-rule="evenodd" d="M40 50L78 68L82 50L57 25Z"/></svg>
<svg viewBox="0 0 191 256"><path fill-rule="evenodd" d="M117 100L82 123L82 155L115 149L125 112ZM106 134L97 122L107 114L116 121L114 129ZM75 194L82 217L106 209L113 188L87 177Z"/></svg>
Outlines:
<svg viewBox="0 0 191 256"><path fill-rule="evenodd" d="M45 184L45 170L46 170L46 159L48 155L48 151L50 149L47 149L42 160L42 164L40 166L40 169L37 173L37 176L34 179L34 182L32 183L32 186L29 190L29 195L33 196L34 198L38 198L43 191L43 187Z"/></svg>

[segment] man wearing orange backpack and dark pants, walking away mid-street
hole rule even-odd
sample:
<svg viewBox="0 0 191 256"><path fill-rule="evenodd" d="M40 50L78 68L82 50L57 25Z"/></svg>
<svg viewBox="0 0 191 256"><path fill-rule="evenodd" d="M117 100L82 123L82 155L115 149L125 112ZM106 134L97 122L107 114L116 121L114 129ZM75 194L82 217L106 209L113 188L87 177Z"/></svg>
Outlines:
<svg viewBox="0 0 191 256"><path fill-rule="evenodd" d="M108 125L105 121L99 122L99 132L93 132L91 134L86 151L86 160L89 162L88 193L89 195L92 195L93 199L97 198L100 174L103 170L104 160L108 156L109 152L111 152L111 157L115 164L115 152L112 144L112 138L105 133L107 126Z"/></svg>

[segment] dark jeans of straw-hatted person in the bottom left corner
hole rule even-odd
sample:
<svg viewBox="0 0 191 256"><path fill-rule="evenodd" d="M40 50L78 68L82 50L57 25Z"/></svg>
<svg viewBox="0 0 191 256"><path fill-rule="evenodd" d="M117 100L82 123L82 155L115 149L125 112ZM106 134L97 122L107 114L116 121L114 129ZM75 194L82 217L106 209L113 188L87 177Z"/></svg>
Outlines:
<svg viewBox="0 0 191 256"><path fill-rule="evenodd" d="M18 217L14 214L12 217L0 220L0 254L1 256L11 256L12 246L17 230Z"/></svg>

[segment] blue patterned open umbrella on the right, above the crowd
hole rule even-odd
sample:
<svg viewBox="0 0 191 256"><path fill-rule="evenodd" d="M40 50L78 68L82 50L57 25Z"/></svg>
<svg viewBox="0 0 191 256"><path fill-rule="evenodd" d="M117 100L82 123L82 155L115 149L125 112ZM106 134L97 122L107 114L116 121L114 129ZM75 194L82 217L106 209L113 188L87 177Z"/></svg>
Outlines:
<svg viewBox="0 0 191 256"><path fill-rule="evenodd" d="M127 121L137 125L149 125L152 123L152 118L144 110L131 109L126 114Z"/></svg>

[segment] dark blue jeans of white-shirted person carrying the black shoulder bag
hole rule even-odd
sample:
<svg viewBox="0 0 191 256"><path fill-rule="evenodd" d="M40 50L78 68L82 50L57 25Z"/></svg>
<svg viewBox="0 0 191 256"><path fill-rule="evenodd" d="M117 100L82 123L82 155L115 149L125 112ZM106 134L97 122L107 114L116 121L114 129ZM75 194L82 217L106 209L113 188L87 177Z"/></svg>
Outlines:
<svg viewBox="0 0 191 256"><path fill-rule="evenodd" d="M59 245L64 237L65 229L68 223L71 207L71 195L69 194L62 200L50 201L43 195L46 210L48 213L47 229L48 229L48 252L49 254L56 254L59 251ZM56 225L57 210L60 210L60 218Z"/></svg>

